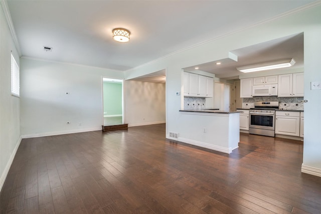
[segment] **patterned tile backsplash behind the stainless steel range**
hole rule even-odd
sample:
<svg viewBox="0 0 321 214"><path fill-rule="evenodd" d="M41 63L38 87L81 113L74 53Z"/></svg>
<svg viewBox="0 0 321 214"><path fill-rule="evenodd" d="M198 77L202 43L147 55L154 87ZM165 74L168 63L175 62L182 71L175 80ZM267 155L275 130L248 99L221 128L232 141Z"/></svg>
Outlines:
<svg viewBox="0 0 321 214"><path fill-rule="evenodd" d="M303 97L253 97L243 98L243 108L254 108L256 101L279 101L279 109L303 110Z"/></svg>

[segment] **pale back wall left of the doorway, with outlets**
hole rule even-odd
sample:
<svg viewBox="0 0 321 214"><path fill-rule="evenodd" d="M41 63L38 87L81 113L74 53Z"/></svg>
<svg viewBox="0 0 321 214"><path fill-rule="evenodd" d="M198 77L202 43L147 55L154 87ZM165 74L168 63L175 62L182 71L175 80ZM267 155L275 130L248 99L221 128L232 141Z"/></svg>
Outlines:
<svg viewBox="0 0 321 214"><path fill-rule="evenodd" d="M102 76L123 79L123 72L26 58L20 63L23 137L101 130Z"/></svg>

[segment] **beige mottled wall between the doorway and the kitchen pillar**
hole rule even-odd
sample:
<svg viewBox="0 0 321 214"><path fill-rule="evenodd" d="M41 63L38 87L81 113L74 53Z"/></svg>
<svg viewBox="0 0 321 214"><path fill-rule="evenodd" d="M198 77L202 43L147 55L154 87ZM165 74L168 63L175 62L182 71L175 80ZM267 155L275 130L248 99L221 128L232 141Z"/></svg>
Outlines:
<svg viewBox="0 0 321 214"><path fill-rule="evenodd" d="M124 122L128 126L166 122L165 84L124 81Z"/></svg>

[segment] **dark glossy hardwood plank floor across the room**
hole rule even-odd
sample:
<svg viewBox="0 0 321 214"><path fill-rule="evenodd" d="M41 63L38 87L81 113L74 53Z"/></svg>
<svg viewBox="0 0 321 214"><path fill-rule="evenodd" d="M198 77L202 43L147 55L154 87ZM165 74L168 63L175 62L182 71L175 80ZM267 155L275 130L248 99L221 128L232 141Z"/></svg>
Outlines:
<svg viewBox="0 0 321 214"><path fill-rule="evenodd" d="M231 154L165 138L165 124L24 139L5 213L321 213L299 141L241 134Z"/></svg>

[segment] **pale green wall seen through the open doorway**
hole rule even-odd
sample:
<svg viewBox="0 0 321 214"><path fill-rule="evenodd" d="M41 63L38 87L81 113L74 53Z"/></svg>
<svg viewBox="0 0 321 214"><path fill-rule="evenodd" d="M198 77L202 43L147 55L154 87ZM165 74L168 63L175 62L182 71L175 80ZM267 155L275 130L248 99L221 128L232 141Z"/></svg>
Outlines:
<svg viewBox="0 0 321 214"><path fill-rule="evenodd" d="M122 114L122 84L104 82L104 115Z"/></svg>

